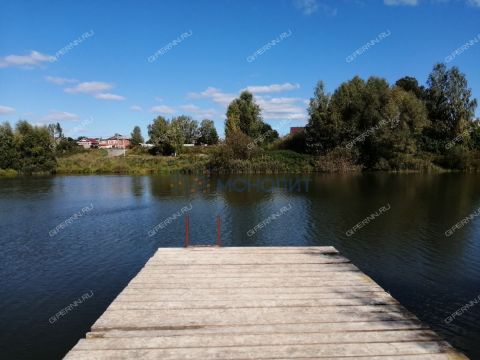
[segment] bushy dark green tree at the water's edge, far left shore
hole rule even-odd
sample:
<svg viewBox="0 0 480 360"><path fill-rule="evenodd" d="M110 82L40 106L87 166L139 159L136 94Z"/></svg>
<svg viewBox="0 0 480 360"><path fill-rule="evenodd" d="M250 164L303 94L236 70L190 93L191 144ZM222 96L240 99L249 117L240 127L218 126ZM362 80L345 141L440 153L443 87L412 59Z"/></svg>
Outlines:
<svg viewBox="0 0 480 360"><path fill-rule="evenodd" d="M16 169L26 174L55 170L54 143L47 127L19 121L15 130L15 145L19 156Z"/></svg>

